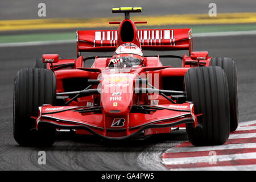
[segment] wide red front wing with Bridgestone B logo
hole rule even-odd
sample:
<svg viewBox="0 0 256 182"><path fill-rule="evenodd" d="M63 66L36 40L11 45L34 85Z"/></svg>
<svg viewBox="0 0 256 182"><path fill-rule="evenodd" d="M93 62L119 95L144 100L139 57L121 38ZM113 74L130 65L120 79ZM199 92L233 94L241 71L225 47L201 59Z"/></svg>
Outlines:
<svg viewBox="0 0 256 182"><path fill-rule="evenodd" d="M135 105L127 115L105 115L101 107L52 106L39 107L36 129L52 125L56 129L76 130L80 134L98 135L106 139L127 139L144 134L166 133L171 127L197 125L191 102L166 105Z"/></svg>

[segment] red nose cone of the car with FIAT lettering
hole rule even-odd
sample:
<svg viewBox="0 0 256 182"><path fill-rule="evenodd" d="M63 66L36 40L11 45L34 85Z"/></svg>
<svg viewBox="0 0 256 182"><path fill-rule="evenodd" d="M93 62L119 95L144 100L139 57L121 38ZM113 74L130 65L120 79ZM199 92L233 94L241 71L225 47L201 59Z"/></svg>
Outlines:
<svg viewBox="0 0 256 182"><path fill-rule="evenodd" d="M133 105L134 75L102 73L101 106L107 115L126 115Z"/></svg>

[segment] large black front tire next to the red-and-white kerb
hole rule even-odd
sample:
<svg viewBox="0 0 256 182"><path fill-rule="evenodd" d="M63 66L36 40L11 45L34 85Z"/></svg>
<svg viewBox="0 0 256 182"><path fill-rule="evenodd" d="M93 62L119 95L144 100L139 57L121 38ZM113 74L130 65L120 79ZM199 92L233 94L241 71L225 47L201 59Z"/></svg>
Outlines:
<svg viewBox="0 0 256 182"><path fill-rule="evenodd" d="M223 144L229 137L229 94L226 75L220 67L197 67L184 77L187 101L195 104L197 126L187 124L189 141L195 146Z"/></svg>

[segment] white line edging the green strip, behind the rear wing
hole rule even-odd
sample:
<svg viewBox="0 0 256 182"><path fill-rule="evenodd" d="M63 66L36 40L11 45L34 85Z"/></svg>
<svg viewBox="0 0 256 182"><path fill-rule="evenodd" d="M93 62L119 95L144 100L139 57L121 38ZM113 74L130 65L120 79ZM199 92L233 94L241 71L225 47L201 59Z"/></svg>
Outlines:
<svg viewBox="0 0 256 182"><path fill-rule="evenodd" d="M256 30L197 33L197 34L193 34L193 37L199 38L199 37L237 36L237 35L256 35ZM38 42L0 43L0 47L43 46L43 45L51 45L51 44L69 44L69 43L76 43L76 39L40 41L40 42L38 41Z"/></svg>

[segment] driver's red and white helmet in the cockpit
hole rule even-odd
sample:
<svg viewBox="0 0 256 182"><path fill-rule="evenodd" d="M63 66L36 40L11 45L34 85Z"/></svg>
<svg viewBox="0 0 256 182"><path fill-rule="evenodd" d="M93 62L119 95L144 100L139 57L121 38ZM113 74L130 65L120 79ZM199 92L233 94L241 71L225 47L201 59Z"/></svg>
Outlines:
<svg viewBox="0 0 256 182"><path fill-rule="evenodd" d="M114 59L122 59L126 67L138 67L143 61L141 49L134 43L125 43L117 48Z"/></svg>

